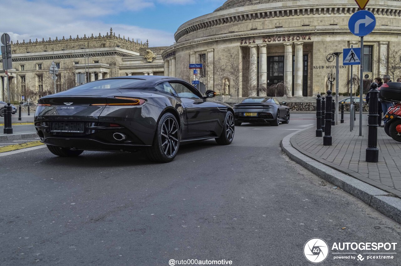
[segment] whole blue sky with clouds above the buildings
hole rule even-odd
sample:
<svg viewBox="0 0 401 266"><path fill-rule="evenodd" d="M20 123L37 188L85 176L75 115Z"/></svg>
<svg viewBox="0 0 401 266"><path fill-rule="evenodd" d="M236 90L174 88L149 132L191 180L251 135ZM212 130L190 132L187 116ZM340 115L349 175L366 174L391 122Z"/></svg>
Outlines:
<svg viewBox="0 0 401 266"><path fill-rule="evenodd" d="M168 46L184 22L213 12L225 0L0 0L0 32L32 41L105 35L110 27L126 38Z"/></svg>

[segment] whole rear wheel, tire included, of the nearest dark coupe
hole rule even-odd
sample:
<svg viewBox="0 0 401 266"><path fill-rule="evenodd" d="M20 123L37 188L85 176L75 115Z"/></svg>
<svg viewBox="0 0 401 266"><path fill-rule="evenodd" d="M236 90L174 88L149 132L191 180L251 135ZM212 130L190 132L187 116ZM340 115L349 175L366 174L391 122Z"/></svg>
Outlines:
<svg viewBox="0 0 401 266"><path fill-rule="evenodd" d="M152 146L144 150L146 157L153 162L171 162L180 147L180 137L180 127L175 116L172 113L163 114Z"/></svg>

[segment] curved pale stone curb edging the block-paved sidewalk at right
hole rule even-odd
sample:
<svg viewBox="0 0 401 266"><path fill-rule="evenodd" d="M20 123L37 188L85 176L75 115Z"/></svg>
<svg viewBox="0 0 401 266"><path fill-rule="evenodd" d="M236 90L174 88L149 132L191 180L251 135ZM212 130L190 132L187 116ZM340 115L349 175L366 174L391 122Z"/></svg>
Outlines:
<svg viewBox="0 0 401 266"><path fill-rule="evenodd" d="M287 135L281 142L282 150L296 163L300 164L320 178L338 186L345 192L351 194L381 212L385 216L401 224L401 199L390 196L389 192L376 188L352 176L326 166L296 150L290 143L295 134L306 130L304 128Z"/></svg>

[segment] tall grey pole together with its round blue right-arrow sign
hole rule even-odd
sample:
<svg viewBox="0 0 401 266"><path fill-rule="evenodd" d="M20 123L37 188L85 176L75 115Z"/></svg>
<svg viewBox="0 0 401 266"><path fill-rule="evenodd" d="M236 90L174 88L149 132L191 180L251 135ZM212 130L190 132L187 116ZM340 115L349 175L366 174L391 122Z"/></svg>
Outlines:
<svg viewBox="0 0 401 266"><path fill-rule="evenodd" d="M358 6L362 4L363 8L369 0L355 0ZM360 6L361 7L361 6ZM362 8L361 8L362 9ZM348 28L352 34L360 37L360 85L359 85L359 136L362 136L362 94L363 94L363 36L371 33L376 26L376 18L372 12L367 10L359 10L352 14L348 20Z"/></svg>

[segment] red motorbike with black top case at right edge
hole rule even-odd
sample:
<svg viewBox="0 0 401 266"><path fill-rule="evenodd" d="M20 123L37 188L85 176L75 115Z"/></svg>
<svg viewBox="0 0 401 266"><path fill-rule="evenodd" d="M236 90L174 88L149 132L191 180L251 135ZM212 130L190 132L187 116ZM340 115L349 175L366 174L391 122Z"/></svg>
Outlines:
<svg viewBox="0 0 401 266"><path fill-rule="evenodd" d="M394 102L385 114L384 131L393 140L401 142L401 83L387 82L380 88L380 98Z"/></svg>

